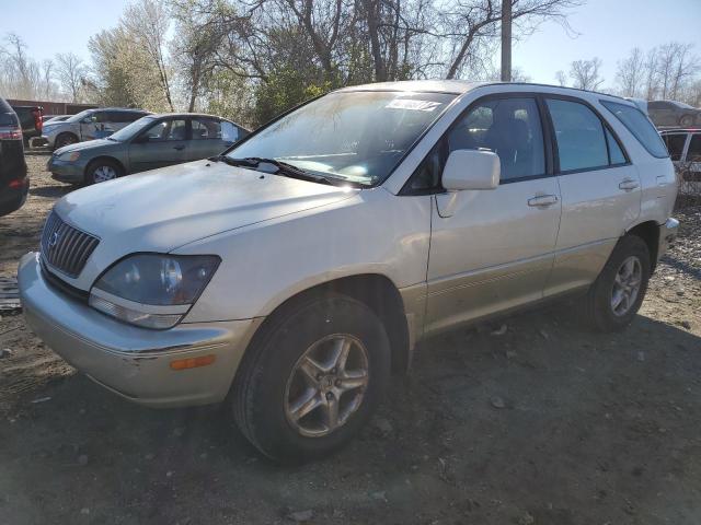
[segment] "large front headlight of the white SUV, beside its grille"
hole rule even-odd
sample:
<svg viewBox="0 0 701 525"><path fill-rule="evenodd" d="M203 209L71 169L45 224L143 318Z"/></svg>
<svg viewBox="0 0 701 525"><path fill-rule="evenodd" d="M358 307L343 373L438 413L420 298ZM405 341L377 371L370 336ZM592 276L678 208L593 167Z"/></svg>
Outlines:
<svg viewBox="0 0 701 525"><path fill-rule="evenodd" d="M170 328L197 301L219 261L214 255L129 256L95 282L90 305L134 325Z"/></svg>

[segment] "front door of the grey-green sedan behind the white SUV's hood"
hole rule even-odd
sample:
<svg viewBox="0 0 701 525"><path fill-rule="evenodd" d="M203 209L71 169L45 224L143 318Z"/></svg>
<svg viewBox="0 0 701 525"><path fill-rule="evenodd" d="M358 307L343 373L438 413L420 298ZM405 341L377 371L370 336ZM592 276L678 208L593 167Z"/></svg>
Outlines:
<svg viewBox="0 0 701 525"><path fill-rule="evenodd" d="M187 162L188 143L184 118L159 120L129 144L131 173Z"/></svg>

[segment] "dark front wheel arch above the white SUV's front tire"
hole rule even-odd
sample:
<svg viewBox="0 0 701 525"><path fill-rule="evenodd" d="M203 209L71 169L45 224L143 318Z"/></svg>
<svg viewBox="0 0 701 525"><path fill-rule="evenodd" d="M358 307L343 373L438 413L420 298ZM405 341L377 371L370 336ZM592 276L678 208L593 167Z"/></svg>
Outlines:
<svg viewBox="0 0 701 525"><path fill-rule="evenodd" d="M341 277L299 291L278 304L257 327L249 347L265 332L267 326L300 303L324 298L332 293L348 295L368 306L387 329L390 339L392 372L404 373L411 364L410 327L404 301L397 285L380 273Z"/></svg>

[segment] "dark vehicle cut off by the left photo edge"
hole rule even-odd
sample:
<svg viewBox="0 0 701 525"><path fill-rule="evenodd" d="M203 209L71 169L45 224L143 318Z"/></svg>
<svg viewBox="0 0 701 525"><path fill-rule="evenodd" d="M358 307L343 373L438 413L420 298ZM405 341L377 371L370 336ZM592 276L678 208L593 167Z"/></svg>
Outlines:
<svg viewBox="0 0 701 525"><path fill-rule="evenodd" d="M28 189L20 120L0 98L0 215L20 209Z"/></svg>

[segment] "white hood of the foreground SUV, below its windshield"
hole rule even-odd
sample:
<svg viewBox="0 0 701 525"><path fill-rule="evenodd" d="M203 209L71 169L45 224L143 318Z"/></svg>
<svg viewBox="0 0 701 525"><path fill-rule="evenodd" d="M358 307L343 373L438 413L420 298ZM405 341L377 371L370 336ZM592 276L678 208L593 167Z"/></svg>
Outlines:
<svg viewBox="0 0 701 525"><path fill-rule="evenodd" d="M196 161L79 189L60 199L56 211L73 226L99 236L96 252L111 264L129 253L170 252L358 191Z"/></svg>

